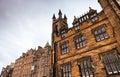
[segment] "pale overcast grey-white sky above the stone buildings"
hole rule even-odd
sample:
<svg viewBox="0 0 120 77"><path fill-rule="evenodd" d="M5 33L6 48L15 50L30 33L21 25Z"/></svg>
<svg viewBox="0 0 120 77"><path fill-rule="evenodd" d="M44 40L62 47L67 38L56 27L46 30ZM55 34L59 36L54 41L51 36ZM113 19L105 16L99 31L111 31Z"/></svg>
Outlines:
<svg viewBox="0 0 120 77"><path fill-rule="evenodd" d="M101 11L97 0L0 0L0 71L22 52L51 43L52 16L59 9L71 27L89 6Z"/></svg>

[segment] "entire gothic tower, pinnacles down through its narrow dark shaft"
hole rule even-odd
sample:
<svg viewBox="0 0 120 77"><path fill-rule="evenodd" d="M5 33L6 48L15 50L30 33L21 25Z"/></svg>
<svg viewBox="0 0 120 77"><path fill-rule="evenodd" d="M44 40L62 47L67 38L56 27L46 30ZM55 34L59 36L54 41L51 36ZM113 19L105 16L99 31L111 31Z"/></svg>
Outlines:
<svg viewBox="0 0 120 77"><path fill-rule="evenodd" d="M52 17L52 65L53 65L53 77L56 77L56 51L57 43L56 41L62 39L65 36L65 33L68 31L67 17L64 15L62 17L62 12L59 10L58 18L53 14Z"/></svg>

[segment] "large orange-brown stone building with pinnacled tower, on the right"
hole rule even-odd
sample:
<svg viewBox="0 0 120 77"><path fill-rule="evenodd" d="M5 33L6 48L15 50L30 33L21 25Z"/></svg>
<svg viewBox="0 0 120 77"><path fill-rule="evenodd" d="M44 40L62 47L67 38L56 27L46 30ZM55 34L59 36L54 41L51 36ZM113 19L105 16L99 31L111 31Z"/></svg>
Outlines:
<svg viewBox="0 0 120 77"><path fill-rule="evenodd" d="M103 10L74 17L53 15L53 77L120 77L120 0L98 0Z"/></svg>

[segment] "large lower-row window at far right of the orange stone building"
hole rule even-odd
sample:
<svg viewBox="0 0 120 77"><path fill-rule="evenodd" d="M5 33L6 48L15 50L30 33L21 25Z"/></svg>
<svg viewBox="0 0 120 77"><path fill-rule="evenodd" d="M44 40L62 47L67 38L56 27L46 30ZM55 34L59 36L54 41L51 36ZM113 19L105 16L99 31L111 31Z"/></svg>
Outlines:
<svg viewBox="0 0 120 77"><path fill-rule="evenodd" d="M120 75L120 57L116 48L100 53L100 58L108 76Z"/></svg>

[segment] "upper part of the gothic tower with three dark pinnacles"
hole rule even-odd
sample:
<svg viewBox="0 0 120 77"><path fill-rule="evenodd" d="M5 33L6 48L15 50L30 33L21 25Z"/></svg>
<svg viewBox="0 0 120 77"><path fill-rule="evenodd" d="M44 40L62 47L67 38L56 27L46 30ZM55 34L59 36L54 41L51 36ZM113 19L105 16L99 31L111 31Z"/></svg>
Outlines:
<svg viewBox="0 0 120 77"><path fill-rule="evenodd" d="M53 23L52 23L52 37L55 41L56 37L64 37L64 33L67 32L68 24L67 24L67 17L64 15L62 18L62 12L59 10L58 18L56 19L55 14L53 15Z"/></svg>

